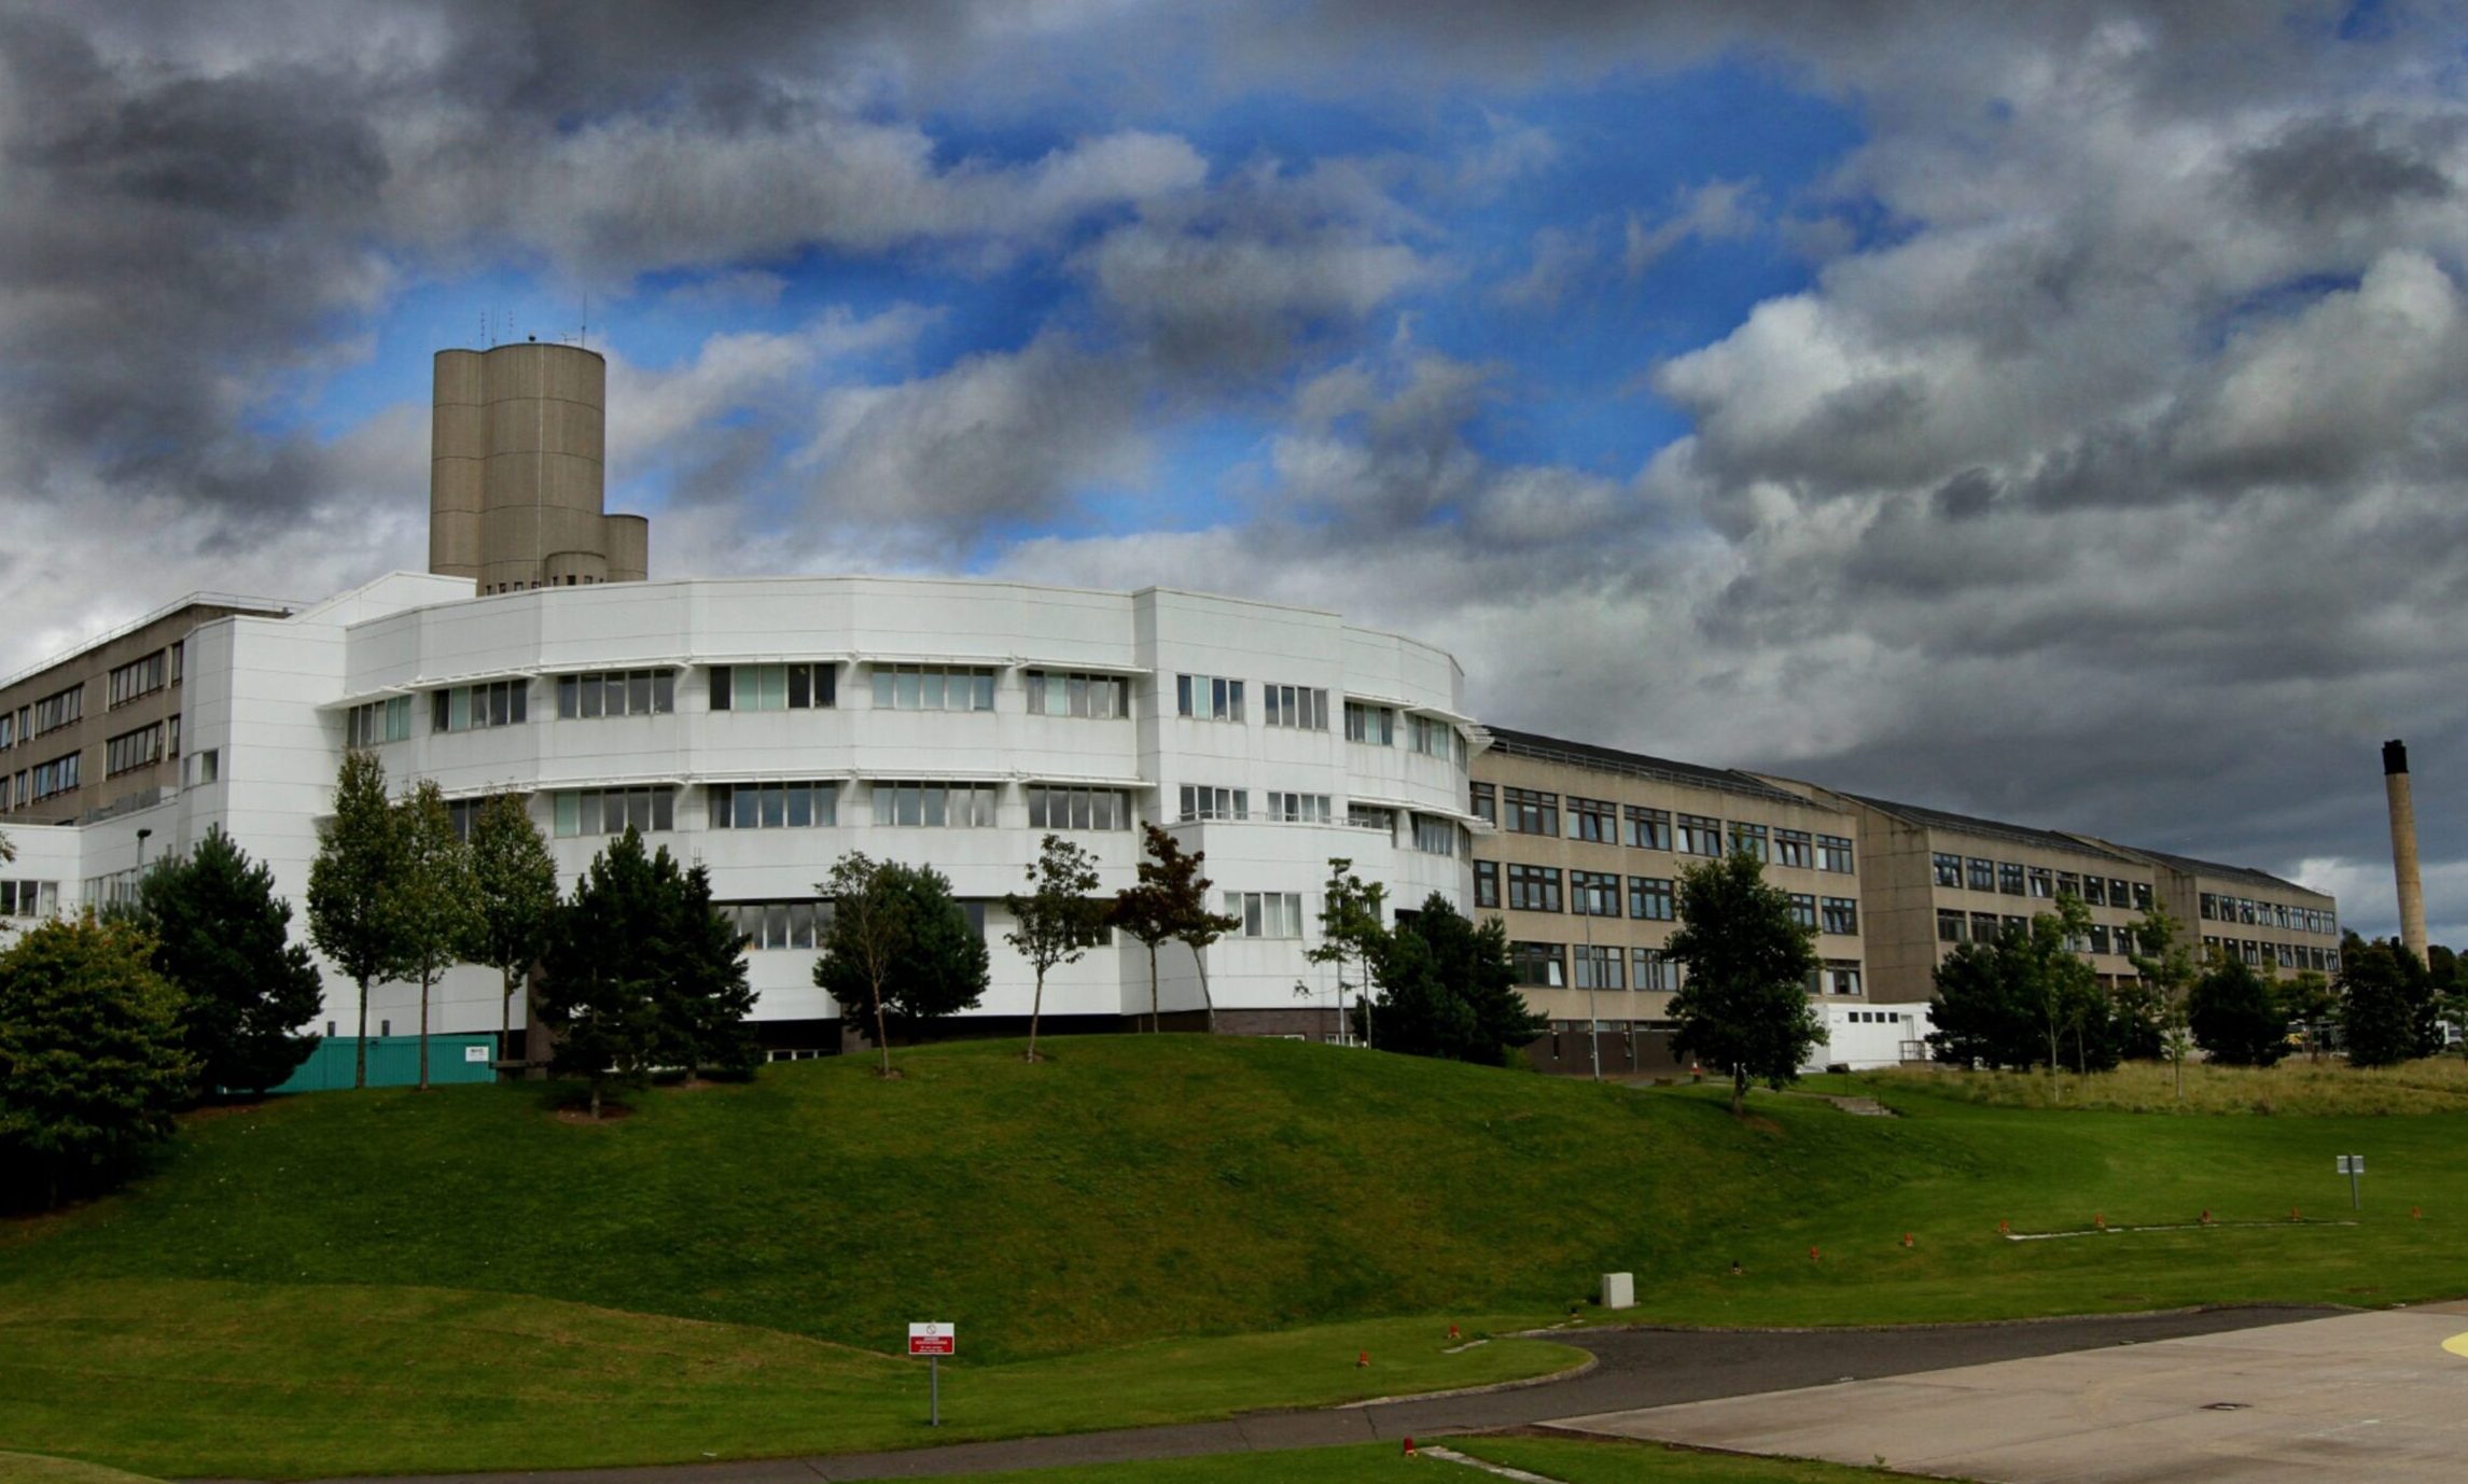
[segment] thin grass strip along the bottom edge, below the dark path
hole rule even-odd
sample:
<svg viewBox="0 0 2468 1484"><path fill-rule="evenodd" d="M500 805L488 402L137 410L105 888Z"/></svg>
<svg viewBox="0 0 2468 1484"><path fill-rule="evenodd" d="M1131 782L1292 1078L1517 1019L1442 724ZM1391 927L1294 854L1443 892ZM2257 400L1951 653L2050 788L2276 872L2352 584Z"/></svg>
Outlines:
<svg viewBox="0 0 2468 1484"><path fill-rule="evenodd" d="M1562 1437L1444 1437L1436 1442L1466 1457L1565 1484L1876 1484L1878 1479L1918 1479L1918 1474L1846 1469L1841 1464L1688 1452L1656 1442ZM1481 1484L1488 1474L1439 1459L1409 1459L1402 1447L1377 1442L972 1477L977 1484L1357 1484L1362 1479Z"/></svg>

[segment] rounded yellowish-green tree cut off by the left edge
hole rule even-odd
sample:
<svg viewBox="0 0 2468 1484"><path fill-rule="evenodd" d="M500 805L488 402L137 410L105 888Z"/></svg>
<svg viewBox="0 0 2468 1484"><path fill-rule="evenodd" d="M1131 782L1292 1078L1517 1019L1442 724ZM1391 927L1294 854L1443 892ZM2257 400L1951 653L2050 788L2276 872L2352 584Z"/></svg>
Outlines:
<svg viewBox="0 0 2468 1484"><path fill-rule="evenodd" d="M141 928L49 919L0 953L0 1190L52 1207L116 1175L170 1136L193 1077Z"/></svg>

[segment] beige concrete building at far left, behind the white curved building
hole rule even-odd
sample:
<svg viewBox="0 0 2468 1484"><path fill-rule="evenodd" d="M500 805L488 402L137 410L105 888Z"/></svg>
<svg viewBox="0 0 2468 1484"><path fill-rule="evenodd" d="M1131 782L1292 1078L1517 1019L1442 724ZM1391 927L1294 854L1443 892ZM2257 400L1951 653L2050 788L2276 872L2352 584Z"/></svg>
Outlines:
<svg viewBox="0 0 2468 1484"><path fill-rule="evenodd" d="M193 593L0 684L0 825L104 820L175 788L188 635L239 612L291 607Z"/></svg>

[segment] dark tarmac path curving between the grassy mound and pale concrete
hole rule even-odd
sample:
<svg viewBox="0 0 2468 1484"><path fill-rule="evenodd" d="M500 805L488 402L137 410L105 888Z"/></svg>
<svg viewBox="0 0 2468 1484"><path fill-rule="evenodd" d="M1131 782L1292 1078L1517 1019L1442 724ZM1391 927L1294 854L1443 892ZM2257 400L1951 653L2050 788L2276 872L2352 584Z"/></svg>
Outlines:
<svg viewBox="0 0 2468 1484"><path fill-rule="evenodd" d="M2327 1309L2211 1309L2034 1324L1952 1324L1868 1331L1683 1331L1592 1328L1565 1336L1592 1351L1594 1370L1464 1398L1402 1400L1315 1412L1256 1412L1229 1422L1128 1427L1071 1437L963 1442L908 1452L758 1459L738 1464L661 1464L536 1474L427 1474L417 1484L812 1484L814 1479L928 1479L995 1469L1170 1459L1219 1452L1271 1452L1335 1442L1380 1442L1518 1427L1584 1412L1634 1412L1708 1398L1826 1385L1849 1378L1910 1375L1952 1365L2142 1346L2290 1319ZM338 1482L343 1484L343 1482ZM412 1484L355 1479L348 1484Z"/></svg>

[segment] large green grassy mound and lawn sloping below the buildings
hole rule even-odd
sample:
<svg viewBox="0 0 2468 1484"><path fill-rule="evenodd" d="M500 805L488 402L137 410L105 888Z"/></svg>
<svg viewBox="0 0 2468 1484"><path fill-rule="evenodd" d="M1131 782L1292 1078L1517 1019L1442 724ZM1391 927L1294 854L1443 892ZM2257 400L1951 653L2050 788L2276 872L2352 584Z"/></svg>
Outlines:
<svg viewBox="0 0 2468 1484"><path fill-rule="evenodd" d="M1757 1094L1735 1121L1713 1086L1291 1042L1054 1057L770 1067L607 1126L533 1086L200 1119L133 1190L0 1227L0 1447L281 1477L928 1442L923 1370L888 1358L911 1319L960 1326L945 1437L1209 1417L1552 1370L1565 1351L1439 1336L1609 1269L1636 1274L1621 1319L1671 1324L2468 1291L2468 1114L1893 1086L1903 1119ZM2357 1225L2337 1153L2369 1158ZM2204 1207L2221 1225L1997 1235Z"/></svg>

